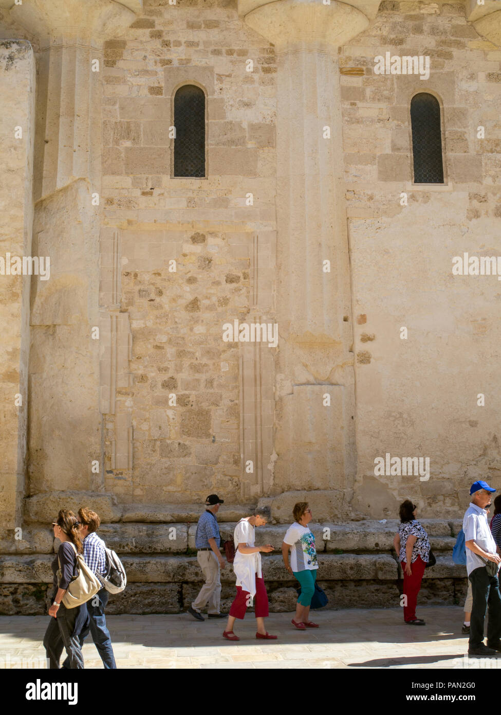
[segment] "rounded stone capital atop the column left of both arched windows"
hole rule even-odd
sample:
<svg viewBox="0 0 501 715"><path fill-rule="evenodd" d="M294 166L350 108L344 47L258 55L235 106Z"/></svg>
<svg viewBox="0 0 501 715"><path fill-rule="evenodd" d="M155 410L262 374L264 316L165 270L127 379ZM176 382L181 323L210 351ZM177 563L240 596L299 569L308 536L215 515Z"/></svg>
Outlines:
<svg viewBox="0 0 501 715"><path fill-rule="evenodd" d="M100 46L119 36L142 10L142 0L0 0L9 16L31 32L41 49L54 44Z"/></svg>

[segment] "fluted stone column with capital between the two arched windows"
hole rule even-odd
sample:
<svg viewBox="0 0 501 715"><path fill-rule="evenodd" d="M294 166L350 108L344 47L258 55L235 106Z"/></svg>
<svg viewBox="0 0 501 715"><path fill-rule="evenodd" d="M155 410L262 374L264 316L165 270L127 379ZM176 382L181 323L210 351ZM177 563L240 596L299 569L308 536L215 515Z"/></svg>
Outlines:
<svg viewBox="0 0 501 715"><path fill-rule="evenodd" d="M337 49L367 27L377 4L363 9L335 0L239 0L245 23L274 44L278 66L274 490L342 490L354 475Z"/></svg>

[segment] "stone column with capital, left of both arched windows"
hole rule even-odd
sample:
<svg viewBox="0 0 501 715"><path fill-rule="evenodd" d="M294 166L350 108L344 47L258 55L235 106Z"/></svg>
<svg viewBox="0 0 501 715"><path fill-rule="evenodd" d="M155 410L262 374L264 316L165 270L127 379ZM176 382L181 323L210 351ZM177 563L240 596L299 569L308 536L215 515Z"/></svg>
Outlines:
<svg viewBox="0 0 501 715"><path fill-rule="evenodd" d="M6 4L6 0L1 0ZM38 65L32 252L29 495L104 488L99 411L101 94L105 39L141 0L23 0L9 17L33 37ZM96 462L99 471L96 471ZM47 514L49 516L49 514Z"/></svg>

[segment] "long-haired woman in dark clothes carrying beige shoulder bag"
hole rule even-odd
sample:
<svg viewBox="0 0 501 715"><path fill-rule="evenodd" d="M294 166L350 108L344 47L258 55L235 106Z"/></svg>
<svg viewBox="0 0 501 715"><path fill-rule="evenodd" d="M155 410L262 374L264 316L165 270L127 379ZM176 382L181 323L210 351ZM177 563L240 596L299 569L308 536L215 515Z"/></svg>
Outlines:
<svg viewBox="0 0 501 715"><path fill-rule="evenodd" d="M61 509L59 515L52 523L54 538L61 541L57 556L52 562L54 573L54 591L52 605L49 608L51 621L44 636L44 648L49 659L50 669L59 669L59 660L63 648L69 659L69 668L81 669L84 667L84 658L81 654L79 633L86 625L86 603L75 608L66 608L62 603L69 582L78 575L76 566L76 551L82 553L82 543L79 536L79 521L72 511ZM76 549L76 551L75 551ZM61 569L61 578L58 583L58 570Z"/></svg>

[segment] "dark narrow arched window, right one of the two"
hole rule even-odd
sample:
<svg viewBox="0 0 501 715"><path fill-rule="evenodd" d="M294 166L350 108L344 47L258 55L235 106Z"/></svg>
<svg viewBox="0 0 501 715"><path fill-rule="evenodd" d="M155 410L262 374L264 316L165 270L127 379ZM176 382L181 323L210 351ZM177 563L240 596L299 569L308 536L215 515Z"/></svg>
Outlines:
<svg viewBox="0 0 501 715"><path fill-rule="evenodd" d="M412 157L415 184L443 184L440 104L432 94L420 92L410 103Z"/></svg>

